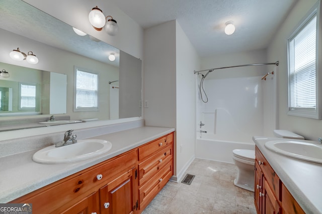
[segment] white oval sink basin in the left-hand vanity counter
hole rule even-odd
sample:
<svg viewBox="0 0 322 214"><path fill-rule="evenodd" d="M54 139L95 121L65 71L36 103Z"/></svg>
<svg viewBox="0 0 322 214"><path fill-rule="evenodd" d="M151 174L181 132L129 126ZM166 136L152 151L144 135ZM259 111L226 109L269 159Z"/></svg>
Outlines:
<svg viewBox="0 0 322 214"><path fill-rule="evenodd" d="M37 151L32 159L37 163L68 163L85 160L109 151L112 143L106 140L77 140L77 143L55 147L48 146Z"/></svg>

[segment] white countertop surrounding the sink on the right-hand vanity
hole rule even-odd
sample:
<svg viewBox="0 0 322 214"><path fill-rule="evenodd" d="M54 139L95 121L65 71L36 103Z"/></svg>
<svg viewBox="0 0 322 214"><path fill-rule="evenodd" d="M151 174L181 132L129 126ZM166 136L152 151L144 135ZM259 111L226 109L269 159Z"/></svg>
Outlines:
<svg viewBox="0 0 322 214"><path fill-rule="evenodd" d="M287 157L265 147L265 142L281 139L253 137L255 144L302 209L306 213L322 213L322 164ZM309 140L291 140L317 143Z"/></svg>

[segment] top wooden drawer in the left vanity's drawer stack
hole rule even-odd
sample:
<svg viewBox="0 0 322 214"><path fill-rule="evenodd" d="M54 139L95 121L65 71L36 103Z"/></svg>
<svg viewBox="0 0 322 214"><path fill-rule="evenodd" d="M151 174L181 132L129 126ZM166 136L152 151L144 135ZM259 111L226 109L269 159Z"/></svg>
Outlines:
<svg viewBox="0 0 322 214"><path fill-rule="evenodd" d="M157 152L159 149L163 149L164 147L173 143L173 133L170 133L164 137L160 137L156 140L153 140L150 143L147 143L141 147L139 147L139 160L143 160L147 156Z"/></svg>

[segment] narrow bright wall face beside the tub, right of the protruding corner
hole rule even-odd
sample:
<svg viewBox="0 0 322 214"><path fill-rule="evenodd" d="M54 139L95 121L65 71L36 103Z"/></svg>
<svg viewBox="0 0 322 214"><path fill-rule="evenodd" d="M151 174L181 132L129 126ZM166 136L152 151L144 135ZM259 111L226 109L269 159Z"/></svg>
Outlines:
<svg viewBox="0 0 322 214"><path fill-rule="evenodd" d="M194 70L200 68L199 56L176 23L177 91L177 176L180 178L195 156L196 93Z"/></svg>

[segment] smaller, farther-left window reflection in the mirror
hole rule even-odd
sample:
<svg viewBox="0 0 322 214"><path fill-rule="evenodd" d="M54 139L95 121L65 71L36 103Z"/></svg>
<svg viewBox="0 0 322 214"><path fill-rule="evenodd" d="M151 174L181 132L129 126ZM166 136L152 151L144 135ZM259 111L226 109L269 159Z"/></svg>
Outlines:
<svg viewBox="0 0 322 214"><path fill-rule="evenodd" d="M36 108L36 84L19 83L19 110Z"/></svg>

